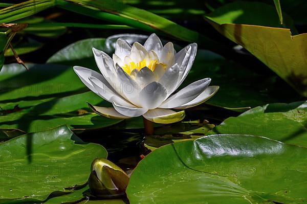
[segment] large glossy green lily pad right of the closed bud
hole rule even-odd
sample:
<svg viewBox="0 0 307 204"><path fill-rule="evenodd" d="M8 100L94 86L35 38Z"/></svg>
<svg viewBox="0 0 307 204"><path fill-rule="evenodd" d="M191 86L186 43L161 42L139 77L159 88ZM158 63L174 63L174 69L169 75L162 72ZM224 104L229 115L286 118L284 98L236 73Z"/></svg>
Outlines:
<svg viewBox="0 0 307 204"><path fill-rule="evenodd" d="M210 135L148 154L131 203L305 203L307 149L252 135Z"/></svg>

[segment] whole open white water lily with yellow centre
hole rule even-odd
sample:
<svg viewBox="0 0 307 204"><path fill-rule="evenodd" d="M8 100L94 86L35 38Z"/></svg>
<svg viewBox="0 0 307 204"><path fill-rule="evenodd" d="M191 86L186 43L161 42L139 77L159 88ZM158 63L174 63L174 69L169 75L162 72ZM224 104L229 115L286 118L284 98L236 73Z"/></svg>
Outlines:
<svg viewBox="0 0 307 204"><path fill-rule="evenodd" d="M74 66L81 81L113 107L90 105L97 114L112 119L143 116L156 123L174 123L185 117L185 109L211 98L218 86L209 86L210 78L195 81L173 94L187 77L197 44L176 53L171 42L164 46L156 34L144 45L118 39L113 58L93 48L100 72Z"/></svg>

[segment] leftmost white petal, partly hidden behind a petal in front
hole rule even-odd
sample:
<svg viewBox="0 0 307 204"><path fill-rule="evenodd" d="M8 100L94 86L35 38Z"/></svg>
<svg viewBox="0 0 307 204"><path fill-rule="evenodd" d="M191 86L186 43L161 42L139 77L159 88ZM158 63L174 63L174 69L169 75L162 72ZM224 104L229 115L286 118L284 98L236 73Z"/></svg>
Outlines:
<svg viewBox="0 0 307 204"><path fill-rule="evenodd" d="M106 79L101 74L99 74L98 72L95 72L94 70L87 69L87 68L82 67L82 66L74 66L74 71L79 76L81 81L87 87L89 87L92 90L92 92L94 92L96 94L98 94L98 91L95 89L95 87L93 86L93 84L91 83L91 81L89 79L89 77L91 77L91 76L96 77L103 84L105 84L105 86L107 86L108 88L111 88L111 86L108 84Z"/></svg>

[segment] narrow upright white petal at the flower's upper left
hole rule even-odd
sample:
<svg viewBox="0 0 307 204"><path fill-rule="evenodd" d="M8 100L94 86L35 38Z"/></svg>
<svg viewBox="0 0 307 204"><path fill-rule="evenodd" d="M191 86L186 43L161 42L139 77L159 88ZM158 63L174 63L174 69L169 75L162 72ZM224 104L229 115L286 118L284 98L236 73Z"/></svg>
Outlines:
<svg viewBox="0 0 307 204"><path fill-rule="evenodd" d="M101 74L109 83L111 83L111 81L116 76L113 59L103 51L97 50L95 48L93 48L93 54Z"/></svg>

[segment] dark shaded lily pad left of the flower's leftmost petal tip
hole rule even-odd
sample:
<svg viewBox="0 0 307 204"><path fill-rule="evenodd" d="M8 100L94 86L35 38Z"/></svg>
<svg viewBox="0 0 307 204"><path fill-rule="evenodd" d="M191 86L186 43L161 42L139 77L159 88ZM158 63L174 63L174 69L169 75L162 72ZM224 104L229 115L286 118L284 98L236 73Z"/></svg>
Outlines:
<svg viewBox="0 0 307 204"><path fill-rule="evenodd" d="M84 92L87 87L79 80L73 67L58 64L13 63L0 72L0 107L12 109L37 105L51 99Z"/></svg>

